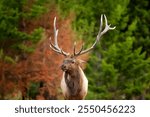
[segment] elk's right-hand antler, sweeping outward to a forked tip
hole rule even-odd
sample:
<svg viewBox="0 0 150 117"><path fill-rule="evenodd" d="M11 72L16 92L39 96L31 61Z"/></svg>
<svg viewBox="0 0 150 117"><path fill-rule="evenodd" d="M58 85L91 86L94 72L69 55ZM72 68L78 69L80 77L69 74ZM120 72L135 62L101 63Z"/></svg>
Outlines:
<svg viewBox="0 0 150 117"><path fill-rule="evenodd" d="M102 30L102 28L103 28L103 17L105 19L105 28L104 28L104 30ZM101 39L102 35L104 35L108 30L114 30L116 28L116 27L110 27L110 25L111 24L108 25L108 23L107 23L106 16L102 14L101 19L100 19L99 32L98 32L98 35L96 37L96 40L95 40L94 44L86 50L83 50L84 45L82 44L81 49L79 50L79 52L76 53L76 49L75 49L76 48L76 43L74 43L74 56L79 56L79 55L82 55L82 54L85 54L85 53L91 51L95 47L97 42Z"/></svg>

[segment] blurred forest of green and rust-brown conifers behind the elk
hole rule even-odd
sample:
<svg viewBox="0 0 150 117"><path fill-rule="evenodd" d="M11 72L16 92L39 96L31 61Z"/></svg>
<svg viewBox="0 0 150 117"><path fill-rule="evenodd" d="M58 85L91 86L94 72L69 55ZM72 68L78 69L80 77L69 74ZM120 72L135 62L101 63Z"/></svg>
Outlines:
<svg viewBox="0 0 150 117"><path fill-rule="evenodd" d="M63 99L63 57L49 48L57 17L59 44L89 47L101 14L116 26L88 55L86 99L150 99L149 0L0 0L0 99Z"/></svg>

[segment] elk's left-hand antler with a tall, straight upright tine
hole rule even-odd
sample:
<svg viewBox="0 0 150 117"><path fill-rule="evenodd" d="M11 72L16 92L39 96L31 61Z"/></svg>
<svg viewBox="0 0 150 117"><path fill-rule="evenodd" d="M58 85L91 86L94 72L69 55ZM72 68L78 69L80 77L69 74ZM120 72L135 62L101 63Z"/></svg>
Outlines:
<svg viewBox="0 0 150 117"><path fill-rule="evenodd" d="M58 46L58 40L57 40L57 36L58 36L58 29L56 29L56 17L54 18L54 44L52 43L51 37L50 37L50 48L59 53L62 54L64 56L68 56L69 53L66 53L65 51L63 51L62 49L60 49L60 47Z"/></svg>

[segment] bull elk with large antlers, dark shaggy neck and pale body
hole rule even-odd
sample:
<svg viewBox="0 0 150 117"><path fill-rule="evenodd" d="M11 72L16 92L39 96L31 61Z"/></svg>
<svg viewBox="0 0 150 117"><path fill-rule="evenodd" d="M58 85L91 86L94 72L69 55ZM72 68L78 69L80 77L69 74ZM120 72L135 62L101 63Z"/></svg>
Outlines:
<svg viewBox="0 0 150 117"><path fill-rule="evenodd" d="M105 19L105 26L103 27L103 19ZM63 76L61 80L61 89L66 100L83 100L88 92L88 80L81 68L82 61L77 59L78 56L90 52L96 44L100 41L102 35L104 35L108 30L113 30L115 27L110 27L107 23L107 18L105 15L101 15L99 32L96 37L95 42L90 48L84 50L84 45L82 44L79 51L76 51L76 43L73 46L73 53L67 53L62 50L57 41L58 29L56 29L56 17L54 18L54 43L51 41L50 37L50 48L65 58L61 65L63 71Z"/></svg>

